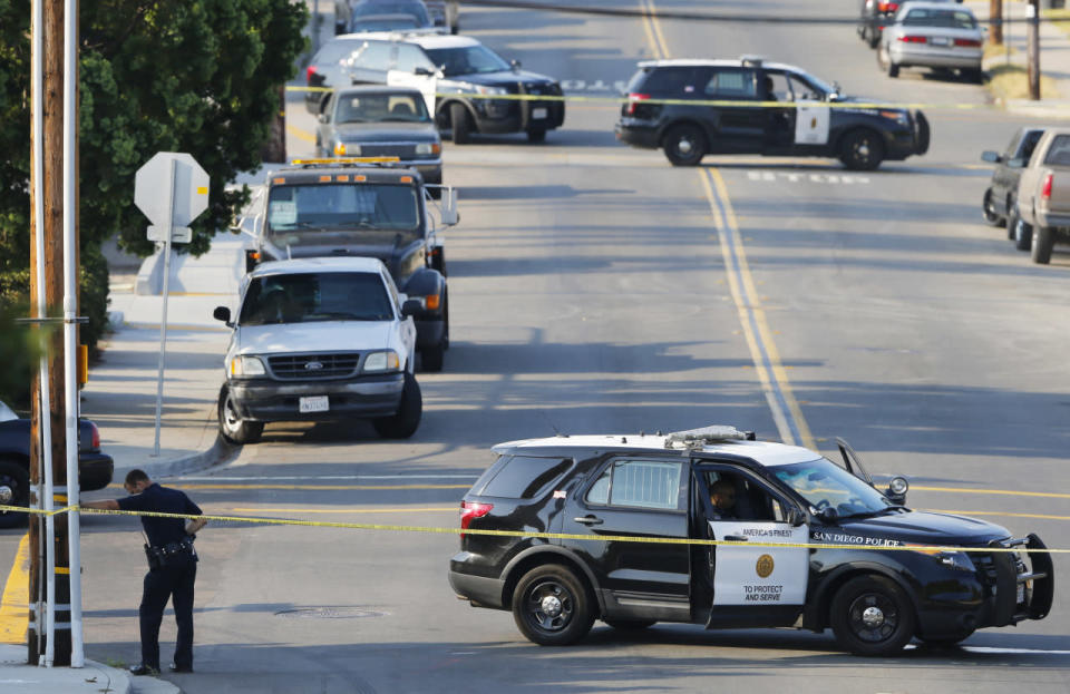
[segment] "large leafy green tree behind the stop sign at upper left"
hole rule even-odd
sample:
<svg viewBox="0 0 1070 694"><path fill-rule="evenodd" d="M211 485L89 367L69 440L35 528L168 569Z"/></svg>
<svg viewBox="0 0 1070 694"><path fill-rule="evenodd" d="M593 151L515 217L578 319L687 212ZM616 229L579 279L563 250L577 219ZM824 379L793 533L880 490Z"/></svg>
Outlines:
<svg viewBox="0 0 1070 694"><path fill-rule="evenodd" d="M29 0L0 0L0 275L29 265ZM134 175L157 151L188 151L211 177L208 209L184 250L200 255L247 192L224 186L256 168L280 86L304 49L304 3L290 0L82 0L80 21L81 306L84 342L105 326L101 242L148 255ZM28 277L28 273L26 273ZM28 282L26 284L28 289Z"/></svg>

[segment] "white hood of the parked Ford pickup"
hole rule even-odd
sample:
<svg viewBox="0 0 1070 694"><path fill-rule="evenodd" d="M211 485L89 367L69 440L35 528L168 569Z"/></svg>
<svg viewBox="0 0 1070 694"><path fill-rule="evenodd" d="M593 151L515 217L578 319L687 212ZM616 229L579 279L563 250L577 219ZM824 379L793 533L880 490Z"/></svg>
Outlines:
<svg viewBox="0 0 1070 694"><path fill-rule="evenodd" d="M392 321L322 321L239 326L239 354L366 352L391 344Z"/></svg>

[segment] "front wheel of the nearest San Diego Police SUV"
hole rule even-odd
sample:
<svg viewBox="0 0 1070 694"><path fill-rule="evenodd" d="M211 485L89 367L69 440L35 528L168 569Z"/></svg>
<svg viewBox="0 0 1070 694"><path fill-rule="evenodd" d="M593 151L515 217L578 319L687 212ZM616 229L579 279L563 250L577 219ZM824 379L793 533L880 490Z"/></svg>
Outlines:
<svg viewBox="0 0 1070 694"><path fill-rule="evenodd" d="M855 655L894 655L914 636L914 605L891 578L858 576L833 597L836 641Z"/></svg>

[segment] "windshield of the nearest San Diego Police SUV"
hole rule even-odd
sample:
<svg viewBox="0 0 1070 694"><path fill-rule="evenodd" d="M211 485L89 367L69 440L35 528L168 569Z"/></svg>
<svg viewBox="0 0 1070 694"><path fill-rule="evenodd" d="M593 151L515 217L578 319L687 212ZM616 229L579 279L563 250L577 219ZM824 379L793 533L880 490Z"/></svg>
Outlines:
<svg viewBox="0 0 1070 694"><path fill-rule="evenodd" d="M835 508L840 517L879 514L895 505L827 458L771 468L781 482L817 510Z"/></svg>

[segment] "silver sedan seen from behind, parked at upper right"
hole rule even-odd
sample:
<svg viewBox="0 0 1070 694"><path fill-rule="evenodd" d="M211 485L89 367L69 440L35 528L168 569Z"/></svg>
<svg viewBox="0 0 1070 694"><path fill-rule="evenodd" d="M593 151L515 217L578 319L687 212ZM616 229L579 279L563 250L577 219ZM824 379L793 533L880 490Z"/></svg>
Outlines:
<svg viewBox="0 0 1070 694"><path fill-rule="evenodd" d="M882 33L877 63L888 77L898 77L899 68L921 67L957 70L980 84L983 47L984 31L970 8L907 2Z"/></svg>

